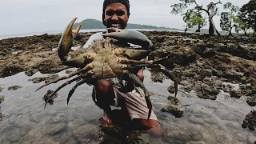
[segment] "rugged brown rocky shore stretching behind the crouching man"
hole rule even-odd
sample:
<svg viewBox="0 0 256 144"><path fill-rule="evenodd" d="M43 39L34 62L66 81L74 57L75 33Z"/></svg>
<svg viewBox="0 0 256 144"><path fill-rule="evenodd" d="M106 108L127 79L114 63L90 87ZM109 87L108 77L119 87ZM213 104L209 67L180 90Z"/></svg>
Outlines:
<svg viewBox="0 0 256 144"><path fill-rule="evenodd" d="M170 59L162 64L178 78L179 90L211 100L215 100L220 93L227 93L230 98L256 106L255 38L210 37L208 34L167 31L142 33L154 43L153 51L149 54L150 59L170 55ZM84 45L91 34L94 32L80 33L75 41L78 50L71 51L70 54L82 54L83 49L79 47ZM57 51L54 50L60 37L61 34L42 34L0 40L0 78L22 71L31 76L38 71L42 74L55 74L68 69L69 67L62 65ZM162 82L166 78L158 72L152 74L151 79L154 82ZM41 82L46 79L35 78L32 81ZM253 114L255 113L251 112L250 115ZM255 126L255 116L250 118L254 118L249 122L253 126L248 127L254 130L252 127Z"/></svg>

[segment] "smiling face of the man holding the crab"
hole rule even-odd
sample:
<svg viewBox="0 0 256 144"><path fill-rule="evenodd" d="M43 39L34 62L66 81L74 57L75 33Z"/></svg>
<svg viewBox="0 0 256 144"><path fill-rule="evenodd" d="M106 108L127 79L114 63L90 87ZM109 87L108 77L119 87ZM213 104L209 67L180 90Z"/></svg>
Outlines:
<svg viewBox="0 0 256 144"><path fill-rule="evenodd" d="M115 27L118 29L126 28L129 15L126 6L122 3L111 3L106 6L105 10L105 24L107 28Z"/></svg>

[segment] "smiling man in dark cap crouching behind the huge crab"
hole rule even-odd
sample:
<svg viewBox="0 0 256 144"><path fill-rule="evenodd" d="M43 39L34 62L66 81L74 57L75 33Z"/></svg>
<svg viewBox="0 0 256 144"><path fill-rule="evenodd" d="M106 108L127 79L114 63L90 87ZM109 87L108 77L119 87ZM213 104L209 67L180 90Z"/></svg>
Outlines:
<svg viewBox="0 0 256 144"><path fill-rule="evenodd" d="M130 17L129 0L104 0L102 22L106 28L125 29ZM108 32L112 32L109 30ZM96 33L90 36L85 46L89 46L94 40L103 39L102 33ZM138 78L143 82L143 69L138 70ZM154 136L162 136L163 129L158 122L154 112L147 120L148 108L144 96L141 96L138 91L133 90L130 82L126 82L126 87L122 90L122 86L118 86L117 78L98 80L94 86L93 98L97 106L104 110L102 116L102 125L111 126L114 121L114 112L110 106L122 107L123 115L129 116L130 122L134 126L146 128L150 134ZM122 87L123 88L123 87ZM120 121L120 120L119 120ZM126 121L126 120L124 120ZM128 121L129 122L129 121Z"/></svg>

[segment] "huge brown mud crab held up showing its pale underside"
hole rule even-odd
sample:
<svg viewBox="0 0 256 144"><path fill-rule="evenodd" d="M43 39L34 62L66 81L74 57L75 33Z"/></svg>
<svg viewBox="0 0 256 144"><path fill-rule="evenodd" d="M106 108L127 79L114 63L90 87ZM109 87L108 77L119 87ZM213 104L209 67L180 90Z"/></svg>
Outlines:
<svg viewBox="0 0 256 144"><path fill-rule="evenodd" d="M67 98L67 104L70 101L70 97L74 93L74 90L82 85L83 83L93 83L96 82L98 79L105 79L105 78L131 78L134 82L134 86L141 87L144 90L146 104L149 108L149 115L150 118L152 104L149 98L149 92L146 90L146 86L141 82L134 70L141 69L144 66L147 67L157 67L159 68L167 77L174 81L175 85L175 96L178 91L178 82L177 79L174 77L173 74L170 73L169 70L166 70L164 66L160 64L162 59L157 61L140 61L142 58L146 58L147 54L149 54L149 50L143 50L138 48L128 48L125 46L118 46L115 43L122 41L123 42L130 42L135 45L142 46L142 48L148 48L152 45L150 40L146 38L146 36L138 31L134 30L119 30L118 32L102 34L106 38L106 40L98 40L95 41L92 45L86 48L86 52L81 54L77 58L70 58L68 53L70 52L71 46L73 46L74 36L72 34L72 28L74 25L76 18L74 18L68 26L66 26L66 30L62 34L62 38L58 43L58 57L62 60L63 64L66 66L73 66L80 68L78 71L74 72L73 74L69 74L67 76L58 78L52 82L48 82L38 88L41 89L44 86L50 85L51 83L56 83L63 79L67 79L78 75L76 78L71 79L59 86L48 98L46 99L46 104L56 98L54 94L62 89L62 87L70 84L71 82L76 82L76 85L70 90ZM79 31L81 25L78 26L76 33ZM113 40L114 38L115 40ZM168 56L166 57L168 58ZM46 106L45 104L45 106Z"/></svg>

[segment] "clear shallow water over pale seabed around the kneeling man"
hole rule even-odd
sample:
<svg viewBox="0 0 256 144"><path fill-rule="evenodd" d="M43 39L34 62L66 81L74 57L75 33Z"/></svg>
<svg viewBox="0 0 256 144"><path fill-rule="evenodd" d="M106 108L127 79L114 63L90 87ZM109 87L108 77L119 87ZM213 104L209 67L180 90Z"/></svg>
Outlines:
<svg viewBox="0 0 256 144"><path fill-rule="evenodd" d="M62 71L60 76L65 75ZM100 143L106 135L98 127L98 119L102 110L94 105L91 98L92 86L79 86L70 98L69 106L66 97L72 86L58 92L53 106L43 109L42 96L47 90L54 90L62 82L52 84L34 92L41 83L34 84L28 79L42 77L46 74L34 74L27 77L19 73L11 77L0 78L3 88L2 114L0 122L0 143ZM219 95L216 101L197 98L194 94L178 92L178 99L184 104L185 112L182 118L161 112L167 105L167 97L171 95L166 88L170 80L163 83L151 82L150 72L145 71L145 84L154 93L150 97L154 112L165 129L163 138L152 138L148 134L138 136L139 143L254 143L256 132L242 129L242 121L253 109L246 102L228 96ZM18 90L8 90L10 86L22 86ZM136 135L136 134L134 134ZM129 139L110 139L108 142L123 143ZM132 142L130 138L129 142ZM137 142L137 141L136 141Z"/></svg>

